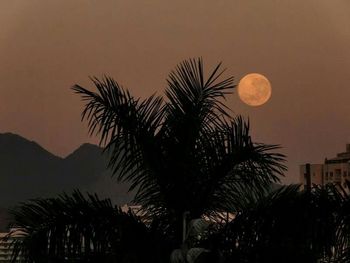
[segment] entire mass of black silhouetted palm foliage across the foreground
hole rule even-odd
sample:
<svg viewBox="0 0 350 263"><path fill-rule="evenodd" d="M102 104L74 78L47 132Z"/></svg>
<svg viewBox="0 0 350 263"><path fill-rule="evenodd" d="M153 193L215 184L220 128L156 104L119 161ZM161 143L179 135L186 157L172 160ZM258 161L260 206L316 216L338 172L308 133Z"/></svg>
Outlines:
<svg viewBox="0 0 350 263"><path fill-rule="evenodd" d="M134 98L111 78L74 86L83 118L131 183L140 216L79 192L18 207L25 262L346 262L349 196L336 187L271 190L285 170L276 145L254 143L223 104L234 88L200 59L168 78L165 98ZM235 215L231 220L229 215ZM224 216L223 216L224 215ZM204 219L210 219L205 221Z"/></svg>

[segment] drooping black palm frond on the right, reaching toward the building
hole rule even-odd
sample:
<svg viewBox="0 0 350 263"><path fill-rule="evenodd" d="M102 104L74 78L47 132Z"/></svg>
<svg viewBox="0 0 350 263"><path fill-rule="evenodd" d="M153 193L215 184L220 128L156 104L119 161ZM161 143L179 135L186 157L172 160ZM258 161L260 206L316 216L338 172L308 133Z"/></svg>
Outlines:
<svg viewBox="0 0 350 263"><path fill-rule="evenodd" d="M208 212L235 211L244 191L265 193L286 169L284 156L273 152L279 147L253 143L249 122L240 116L222 122L197 145L201 184L193 187Z"/></svg>

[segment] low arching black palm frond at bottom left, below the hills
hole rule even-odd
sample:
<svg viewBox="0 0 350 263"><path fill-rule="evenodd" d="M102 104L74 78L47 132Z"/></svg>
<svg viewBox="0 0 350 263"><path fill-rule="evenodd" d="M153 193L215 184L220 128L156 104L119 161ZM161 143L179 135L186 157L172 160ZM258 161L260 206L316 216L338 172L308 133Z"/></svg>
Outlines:
<svg viewBox="0 0 350 263"><path fill-rule="evenodd" d="M149 256L153 242L149 229L131 212L79 191L33 200L12 214L14 261L119 262L135 253Z"/></svg>

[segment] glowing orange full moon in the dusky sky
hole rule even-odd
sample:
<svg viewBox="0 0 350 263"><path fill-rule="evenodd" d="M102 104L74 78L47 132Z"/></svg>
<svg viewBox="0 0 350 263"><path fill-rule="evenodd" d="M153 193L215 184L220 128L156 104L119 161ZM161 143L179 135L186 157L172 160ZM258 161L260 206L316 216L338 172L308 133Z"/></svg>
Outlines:
<svg viewBox="0 0 350 263"><path fill-rule="evenodd" d="M271 97L270 81L258 73L245 75L238 84L238 96L250 106L260 106Z"/></svg>

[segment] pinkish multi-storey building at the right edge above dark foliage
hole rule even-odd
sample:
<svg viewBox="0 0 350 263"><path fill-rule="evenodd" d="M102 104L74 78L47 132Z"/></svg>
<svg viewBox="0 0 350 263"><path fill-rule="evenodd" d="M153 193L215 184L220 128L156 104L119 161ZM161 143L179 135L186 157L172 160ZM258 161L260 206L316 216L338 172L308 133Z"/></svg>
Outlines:
<svg viewBox="0 0 350 263"><path fill-rule="evenodd" d="M340 184L347 188L345 181L350 181L350 144L346 151L335 158L325 159L323 164L300 165L300 183L304 188L312 185Z"/></svg>

